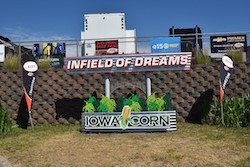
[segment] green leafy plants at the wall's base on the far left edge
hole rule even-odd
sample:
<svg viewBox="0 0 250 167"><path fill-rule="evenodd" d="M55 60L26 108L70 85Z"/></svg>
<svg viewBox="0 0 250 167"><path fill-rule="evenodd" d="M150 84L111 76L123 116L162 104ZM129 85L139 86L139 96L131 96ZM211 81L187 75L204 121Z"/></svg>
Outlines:
<svg viewBox="0 0 250 167"><path fill-rule="evenodd" d="M11 131L11 118L5 108L0 103L0 134Z"/></svg>

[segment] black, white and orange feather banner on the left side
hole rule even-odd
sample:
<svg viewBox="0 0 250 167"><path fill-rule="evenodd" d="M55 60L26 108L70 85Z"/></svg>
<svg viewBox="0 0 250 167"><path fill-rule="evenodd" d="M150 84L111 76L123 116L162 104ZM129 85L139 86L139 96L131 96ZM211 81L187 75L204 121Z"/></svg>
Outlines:
<svg viewBox="0 0 250 167"><path fill-rule="evenodd" d="M31 110L31 104L36 81L36 71L38 66L35 61L26 61L23 64L23 86L28 110Z"/></svg>

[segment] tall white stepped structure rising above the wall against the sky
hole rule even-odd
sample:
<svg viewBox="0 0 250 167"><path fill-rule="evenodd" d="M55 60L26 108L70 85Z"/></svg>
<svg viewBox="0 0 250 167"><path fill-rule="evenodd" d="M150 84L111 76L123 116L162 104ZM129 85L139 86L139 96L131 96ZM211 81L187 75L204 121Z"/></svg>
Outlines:
<svg viewBox="0 0 250 167"><path fill-rule="evenodd" d="M124 13L85 14L82 55L136 53L135 37L135 30L126 30Z"/></svg>

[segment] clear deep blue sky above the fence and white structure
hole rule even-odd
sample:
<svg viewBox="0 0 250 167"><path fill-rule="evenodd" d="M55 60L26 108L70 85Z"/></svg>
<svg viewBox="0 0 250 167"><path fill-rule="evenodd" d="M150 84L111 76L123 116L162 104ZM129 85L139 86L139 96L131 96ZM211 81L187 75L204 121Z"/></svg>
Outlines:
<svg viewBox="0 0 250 167"><path fill-rule="evenodd" d="M0 5L0 35L12 41L80 39L85 13L124 12L127 29L136 29L137 36L169 35L172 26L196 24L204 33L250 31L249 0L0 0Z"/></svg>

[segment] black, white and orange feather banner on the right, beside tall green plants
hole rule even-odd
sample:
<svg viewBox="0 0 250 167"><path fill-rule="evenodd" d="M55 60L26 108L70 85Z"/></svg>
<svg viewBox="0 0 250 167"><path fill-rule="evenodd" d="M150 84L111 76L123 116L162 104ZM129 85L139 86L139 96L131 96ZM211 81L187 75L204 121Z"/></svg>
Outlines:
<svg viewBox="0 0 250 167"><path fill-rule="evenodd" d="M220 65L220 103L222 103L225 88L232 72L233 61L226 55L222 56Z"/></svg>

